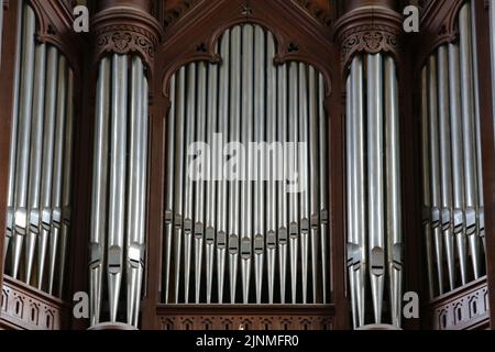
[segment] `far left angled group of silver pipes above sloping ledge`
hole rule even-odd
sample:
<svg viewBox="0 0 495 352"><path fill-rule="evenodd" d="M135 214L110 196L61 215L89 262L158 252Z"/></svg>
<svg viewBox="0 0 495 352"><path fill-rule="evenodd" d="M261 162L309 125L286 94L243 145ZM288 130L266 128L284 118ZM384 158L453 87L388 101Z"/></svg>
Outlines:
<svg viewBox="0 0 495 352"><path fill-rule="evenodd" d="M18 23L6 274L63 297L70 237L74 73L58 48L35 41L30 6L19 6Z"/></svg>

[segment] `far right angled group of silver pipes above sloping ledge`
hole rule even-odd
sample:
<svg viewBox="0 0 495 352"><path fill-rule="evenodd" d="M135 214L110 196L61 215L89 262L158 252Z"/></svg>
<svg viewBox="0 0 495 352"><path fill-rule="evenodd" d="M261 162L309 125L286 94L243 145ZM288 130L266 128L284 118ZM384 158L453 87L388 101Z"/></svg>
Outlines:
<svg viewBox="0 0 495 352"><path fill-rule="evenodd" d="M462 7L459 41L440 46L421 74L424 235L431 297L485 273L474 7L473 1Z"/></svg>

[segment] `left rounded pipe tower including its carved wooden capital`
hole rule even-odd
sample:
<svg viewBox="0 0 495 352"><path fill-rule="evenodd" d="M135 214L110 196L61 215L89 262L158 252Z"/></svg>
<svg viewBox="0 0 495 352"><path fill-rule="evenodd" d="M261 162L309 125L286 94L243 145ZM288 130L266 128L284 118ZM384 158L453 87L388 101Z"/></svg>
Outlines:
<svg viewBox="0 0 495 352"><path fill-rule="evenodd" d="M106 0L92 19L98 65L89 264L92 329L139 324L152 76L146 73L161 36L150 10L150 0Z"/></svg>

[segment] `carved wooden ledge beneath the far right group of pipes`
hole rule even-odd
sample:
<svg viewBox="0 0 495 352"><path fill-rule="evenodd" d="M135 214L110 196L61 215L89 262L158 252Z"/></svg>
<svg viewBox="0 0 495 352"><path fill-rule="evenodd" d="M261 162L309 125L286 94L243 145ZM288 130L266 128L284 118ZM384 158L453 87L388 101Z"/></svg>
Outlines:
<svg viewBox="0 0 495 352"><path fill-rule="evenodd" d="M486 277L432 301L435 330L472 330L490 326Z"/></svg>

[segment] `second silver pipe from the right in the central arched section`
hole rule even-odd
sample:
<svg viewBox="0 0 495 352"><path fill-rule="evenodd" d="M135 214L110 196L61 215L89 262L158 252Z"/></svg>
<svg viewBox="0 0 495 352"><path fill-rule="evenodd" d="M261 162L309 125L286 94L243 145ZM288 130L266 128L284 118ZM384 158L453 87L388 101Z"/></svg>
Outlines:
<svg viewBox="0 0 495 352"><path fill-rule="evenodd" d="M308 77L308 100L309 100L309 227L311 241L311 278L312 278L312 302L318 301L318 257L319 253L319 235L320 235L320 216L319 216L319 145L318 145L318 107L322 101L318 97L318 74L315 67L309 67ZM321 151L321 154L324 154ZM323 155L323 157L326 157ZM323 264L323 263L322 263ZM324 265L324 264L323 264Z"/></svg>

